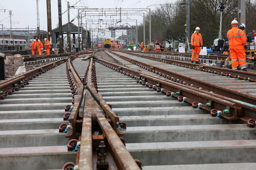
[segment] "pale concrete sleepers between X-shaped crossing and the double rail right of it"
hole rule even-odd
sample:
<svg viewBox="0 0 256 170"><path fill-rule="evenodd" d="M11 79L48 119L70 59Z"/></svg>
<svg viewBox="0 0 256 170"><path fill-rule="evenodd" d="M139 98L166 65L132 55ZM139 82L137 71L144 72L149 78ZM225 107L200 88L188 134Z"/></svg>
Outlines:
<svg viewBox="0 0 256 170"><path fill-rule="evenodd" d="M248 154L242 150L245 143L252 148L255 144L255 130L244 122L211 117L205 110L192 108L189 103L142 86L136 79L105 66L96 64L96 74L99 93L112 105L120 121L127 124L123 131L126 148L134 159L140 159L143 168L216 169L222 163L222 168L228 169L245 165L237 162L254 162L241 156ZM250 134L247 136L250 140L245 140L245 134ZM238 154L237 150L241 151L239 159L223 159Z"/></svg>

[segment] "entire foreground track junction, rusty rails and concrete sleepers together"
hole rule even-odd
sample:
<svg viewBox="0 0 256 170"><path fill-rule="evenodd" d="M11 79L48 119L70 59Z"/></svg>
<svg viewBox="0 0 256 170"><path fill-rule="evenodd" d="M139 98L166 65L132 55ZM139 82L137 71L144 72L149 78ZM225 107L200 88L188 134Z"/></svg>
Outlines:
<svg viewBox="0 0 256 170"><path fill-rule="evenodd" d="M255 74L107 53L0 83L3 169L255 167Z"/></svg>

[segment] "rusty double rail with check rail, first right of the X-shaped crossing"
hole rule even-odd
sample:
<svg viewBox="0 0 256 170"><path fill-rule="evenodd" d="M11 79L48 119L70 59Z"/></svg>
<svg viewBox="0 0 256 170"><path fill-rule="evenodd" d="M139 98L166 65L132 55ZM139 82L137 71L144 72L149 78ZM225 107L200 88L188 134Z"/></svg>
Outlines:
<svg viewBox="0 0 256 170"><path fill-rule="evenodd" d="M256 118L256 106L255 105L245 103L242 101L238 101L233 98L228 98L228 97L225 97L222 95L210 93L207 91L202 91L202 90L196 89L194 87L180 84L179 82L173 82L173 81L166 80L163 78L158 78L158 77L155 77L152 75L146 75L144 73L141 74L141 72L139 72L139 71L129 69L127 67L123 67L123 66L120 66L120 65L117 65L114 63L110 63L110 62L107 62L107 61L104 61L101 59L99 59L99 62L105 63L106 67L109 66L109 67L116 68L116 71L120 70L123 72L127 72L129 74L132 74L132 75L136 75L137 77L140 77L141 80L147 78L148 83L151 83L154 85L158 84L159 85L158 87L162 87L164 89L165 93L167 92L166 89L170 91L169 86L172 86L174 88L174 90L172 90L172 92L174 92L174 93L180 92L182 89L183 92L180 92L180 94L179 94L181 96L184 95L182 93L184 93L184 91L185 91L186 95L184 95L184 96L187 98L198 98L199 101L197 101L197 102L199 102L199 103L211 103L211 105L208 107L204 107L205 105L203 105L203 107L202 107L203 109L211 110L218 105L218 104L216 104L218 102L223 104L223 106L219 106L219 107L222 107L224 109L226 109L226 108L228 109L229 107L234 108L233 114L229 112L230 114L226 114L226 115L222 114L221 115L222 117L225 117L227 119L230 119L230 120L241 119L243 121L247 121L249 118ZM151 80L150 77L151 77L151 79L153 78L153 80ZM163 86L161 86L161 85L163 85ZM155 87L155 88L157 88L157 87ZM185 88L186 88L186 90L185 90ZM191 94L189 92L191 92L196 97L193 95L191 96ZM206 96L204 96L202 93L204 93ZM224 94L224 92L222 94ZM173 96L179 97L179 95L174 94ZM215 104L213 104L212 101L215 101L214 102ZM230 105L227 106L227 103L229 103ZM246 113L245 113L245 109L246 109Z"/></svg>

